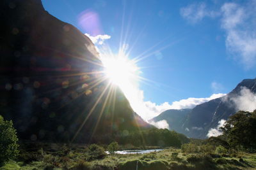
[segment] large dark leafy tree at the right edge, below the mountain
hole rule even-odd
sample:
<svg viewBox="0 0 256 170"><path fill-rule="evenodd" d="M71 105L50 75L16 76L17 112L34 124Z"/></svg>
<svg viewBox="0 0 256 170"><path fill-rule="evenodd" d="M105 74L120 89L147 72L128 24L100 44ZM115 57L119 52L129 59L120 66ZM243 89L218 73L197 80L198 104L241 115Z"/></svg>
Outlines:
<svg viewBox="0 0 256 170"><path fill-rule="evenodd" d="M228 118L221 128L230 146L242 146L247 150L256 149L256 110L238 111Z"/></svg>

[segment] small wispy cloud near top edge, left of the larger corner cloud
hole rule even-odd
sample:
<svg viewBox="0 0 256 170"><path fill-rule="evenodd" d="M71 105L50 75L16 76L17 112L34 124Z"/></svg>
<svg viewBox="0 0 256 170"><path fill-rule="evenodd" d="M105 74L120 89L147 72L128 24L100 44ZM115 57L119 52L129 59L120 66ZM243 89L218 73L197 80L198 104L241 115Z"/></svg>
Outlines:
<svg viewBox="0 0 256 170"><path fill-rule="evenodd" d="M181 8L180 15L192 24L195 24L204 17L217 17L219 13L217 11L207 10L205 3L194 3Z"/></svg>

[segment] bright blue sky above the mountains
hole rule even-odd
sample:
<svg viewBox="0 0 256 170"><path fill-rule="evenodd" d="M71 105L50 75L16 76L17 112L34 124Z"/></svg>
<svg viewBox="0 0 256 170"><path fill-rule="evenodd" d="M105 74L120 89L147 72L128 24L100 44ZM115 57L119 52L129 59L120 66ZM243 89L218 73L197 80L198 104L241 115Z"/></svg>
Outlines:
<svg viewBox="0 0 256 170"><path fill-rule="evenodd" d="M42 2L51 15L83 33L111 36L105 42L114 52L127 35L125 43L134 45L131 59L154 46L137 65L141 76L152 80L140 83L143 100L156 106L225 94L256 77L256 1ZM97 14L96 34L79 22L84 11Z"/></svg>

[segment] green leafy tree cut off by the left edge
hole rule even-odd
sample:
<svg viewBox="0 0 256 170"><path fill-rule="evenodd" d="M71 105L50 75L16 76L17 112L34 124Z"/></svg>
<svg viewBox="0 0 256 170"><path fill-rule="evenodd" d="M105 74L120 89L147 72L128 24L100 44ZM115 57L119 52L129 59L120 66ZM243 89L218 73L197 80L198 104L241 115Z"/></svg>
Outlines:
<svg viewBox="0 0 256 170"><path fill-rule="evenodd" d="M16 130L12 120L8 121L0 115L0 164L14 159L19 153Z"/></svg>

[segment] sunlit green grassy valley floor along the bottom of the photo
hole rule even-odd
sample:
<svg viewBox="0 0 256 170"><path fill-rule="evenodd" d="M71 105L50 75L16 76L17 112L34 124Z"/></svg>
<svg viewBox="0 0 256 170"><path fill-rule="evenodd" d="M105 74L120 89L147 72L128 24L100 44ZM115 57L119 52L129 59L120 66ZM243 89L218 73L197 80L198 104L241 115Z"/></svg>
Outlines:
<svg viewBox="0 0 256 170"><path fill-rule="evenodd" d="M102 147L86 145L27 145L0 169L256 169L256 153L183 153L177 148L160 152L106 155ZM24 150L26 148L26 150ZM43 149L44 148L44 149ZM152 147L151 147L152 148ZM127 148L126 148L127 149Z"/></svg>

